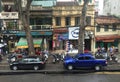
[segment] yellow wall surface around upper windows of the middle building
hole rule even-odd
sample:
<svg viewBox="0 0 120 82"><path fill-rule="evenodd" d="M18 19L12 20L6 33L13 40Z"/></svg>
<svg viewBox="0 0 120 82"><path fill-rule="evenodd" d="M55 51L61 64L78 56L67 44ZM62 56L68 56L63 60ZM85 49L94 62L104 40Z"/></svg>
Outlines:
<svg viewBox="0 0 120 82"><path fill-rule="evenodd" d="M71 17L71 26L75 26L75 17L81 17L82 5L79 6L60 6L53 8L53 28L67 27L65 25L65 17ZM91 26L87 26L86 30L92 31L94 34L94 5L93 3L88 6L87 16L91 16ZM61 26L56 26L55 17L61 17ZM94 38L91 39L91 49L94 51Z"/></svg>

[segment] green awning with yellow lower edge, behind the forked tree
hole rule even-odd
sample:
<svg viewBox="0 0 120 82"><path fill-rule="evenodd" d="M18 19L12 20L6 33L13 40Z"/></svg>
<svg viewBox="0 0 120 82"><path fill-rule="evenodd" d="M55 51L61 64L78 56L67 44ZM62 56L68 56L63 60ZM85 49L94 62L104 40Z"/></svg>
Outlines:
<svg viewBox="0 0 120 82"><path fill-rule="evenodd" d="M33 38L34 47L40 47L42 39ZM26 38L20 38L19 42L16 45L17 48L28 48Z"/></svg>

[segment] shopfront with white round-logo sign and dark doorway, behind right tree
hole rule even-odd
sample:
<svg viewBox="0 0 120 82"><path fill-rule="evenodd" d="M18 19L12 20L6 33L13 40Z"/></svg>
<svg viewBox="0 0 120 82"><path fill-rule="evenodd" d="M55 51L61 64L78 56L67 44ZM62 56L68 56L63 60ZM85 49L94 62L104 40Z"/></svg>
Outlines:
<svg viewBox="0 0 120 82"><path fill-rule="evenodd" d="M84 49L91 50L91 34L85 31ZM78 49L79 27L69 27L69 43L73 45L74 49Z"/></svg>

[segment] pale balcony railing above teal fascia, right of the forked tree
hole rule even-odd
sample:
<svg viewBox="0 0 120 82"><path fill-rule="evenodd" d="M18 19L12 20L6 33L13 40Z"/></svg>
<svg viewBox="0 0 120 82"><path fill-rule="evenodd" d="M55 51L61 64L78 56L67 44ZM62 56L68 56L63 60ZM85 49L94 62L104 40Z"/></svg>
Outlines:
<svg viewBox="0 0 120 82"><path fill-rule="evenodd" d="M51 25L30 25L32 31L51 31Z"/></svg>

